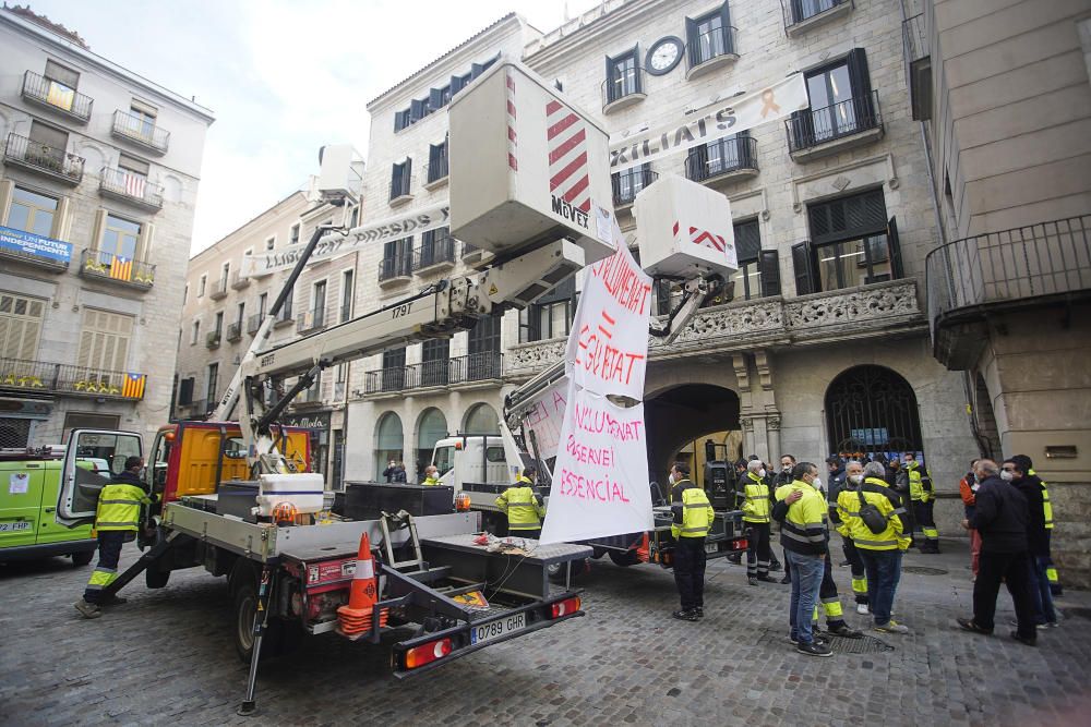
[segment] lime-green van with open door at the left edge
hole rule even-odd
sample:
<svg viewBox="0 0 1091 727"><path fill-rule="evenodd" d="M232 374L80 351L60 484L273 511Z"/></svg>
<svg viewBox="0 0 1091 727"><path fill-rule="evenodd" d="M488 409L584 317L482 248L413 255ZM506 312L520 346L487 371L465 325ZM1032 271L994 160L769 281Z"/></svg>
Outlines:
<svg viewBox="0 0 1091 727"><path fill-rule="evenodd" d="M76 443L72 446L71 443ZM129 455L140 453L140 437L73 432L69 447L0 450L0 562L71 556L85 566L97 543L88 520L63 516L65 472L79 490L97 497Z"/></svg>

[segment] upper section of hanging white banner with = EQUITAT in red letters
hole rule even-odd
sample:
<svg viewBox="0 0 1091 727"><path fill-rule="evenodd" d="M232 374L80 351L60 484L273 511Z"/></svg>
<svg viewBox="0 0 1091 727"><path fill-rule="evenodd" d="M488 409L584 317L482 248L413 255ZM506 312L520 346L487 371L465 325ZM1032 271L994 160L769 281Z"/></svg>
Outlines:
<svg viewBox="0 0 1091 727"><path fill-rule="evenodd" d="M614 221L618 252L587 268L565 374L583 389L639 401L648 364L651 278L640 269Z"/></svg>

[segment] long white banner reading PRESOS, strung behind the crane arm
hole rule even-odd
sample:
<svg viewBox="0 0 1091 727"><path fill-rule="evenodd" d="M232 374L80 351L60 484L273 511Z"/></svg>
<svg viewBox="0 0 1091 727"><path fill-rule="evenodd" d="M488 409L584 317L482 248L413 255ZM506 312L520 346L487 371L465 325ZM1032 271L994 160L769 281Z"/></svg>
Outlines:
<svg viewBox="0 0 1091 727"><path fill-rule="evenodd" d="M349 230L347 233L333 233L319 240L314 252L308 259L308 265L322 263L353 253L363 245L382 244L418 232L428 232L447 223L449 205L446 202L425 209L415 209L396 217L388 217L377 222L368 222ZM288 270L296 266L299 256L307 247L305 243L289 245L284 250L268 253L255 253L242 258L243 276L263 276L277 270Z"/></svg>

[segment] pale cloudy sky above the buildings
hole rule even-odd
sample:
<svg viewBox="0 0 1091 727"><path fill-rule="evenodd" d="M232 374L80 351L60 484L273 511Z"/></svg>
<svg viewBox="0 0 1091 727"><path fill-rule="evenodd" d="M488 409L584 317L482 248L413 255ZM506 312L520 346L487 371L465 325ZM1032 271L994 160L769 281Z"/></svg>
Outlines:
<svg viewBox="0 0 1091 727"><path fill-rule="evenodd" d="M323 144L367 154L364 104L515 11L540 31L563 0L22 0L91 49L212 109L192 252L317 170ZM572 15L596 4L568 0Z"/></svg>

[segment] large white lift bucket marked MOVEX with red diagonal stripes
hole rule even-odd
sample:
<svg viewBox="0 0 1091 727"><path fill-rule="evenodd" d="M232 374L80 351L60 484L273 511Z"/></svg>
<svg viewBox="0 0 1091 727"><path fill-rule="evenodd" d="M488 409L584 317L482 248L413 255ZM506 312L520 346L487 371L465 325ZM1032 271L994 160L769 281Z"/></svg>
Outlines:
<svg viewBox="0 0 1091 727"><path fill-rule="evenodd" d="M561 238L592 263L614 253L607 132L520 63L455 96L451 234L500 258Z"/></svg>

